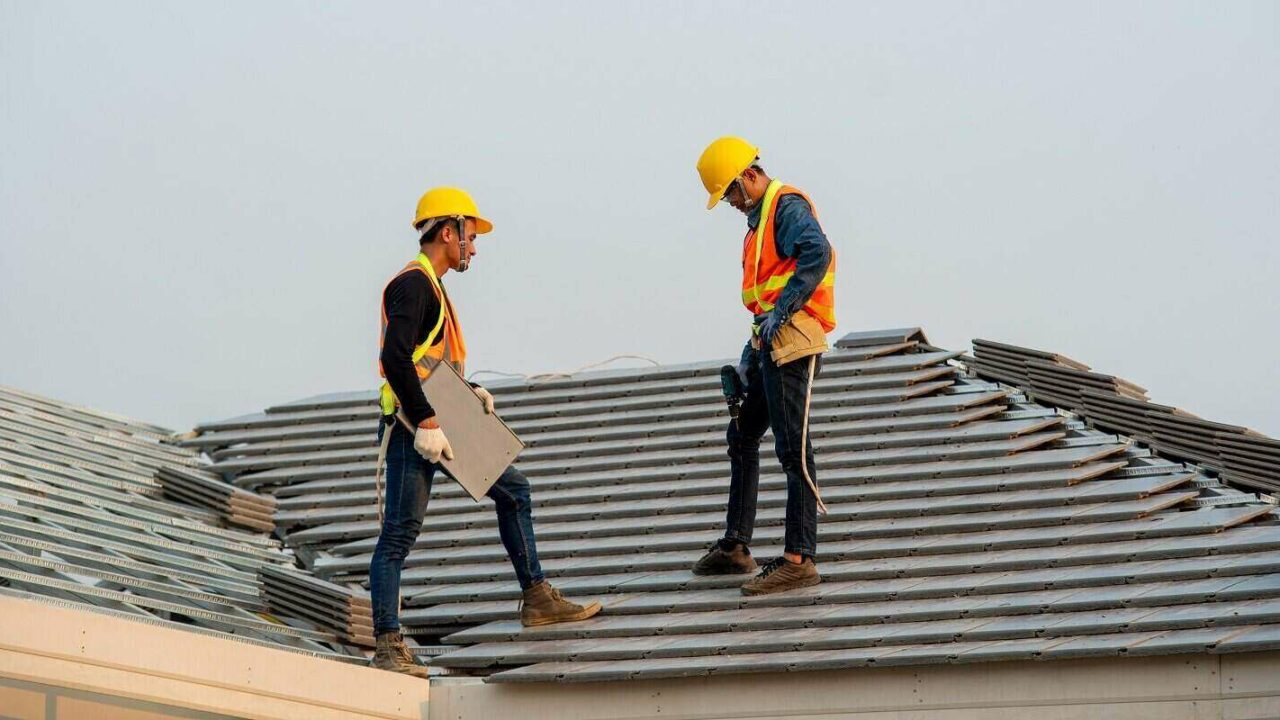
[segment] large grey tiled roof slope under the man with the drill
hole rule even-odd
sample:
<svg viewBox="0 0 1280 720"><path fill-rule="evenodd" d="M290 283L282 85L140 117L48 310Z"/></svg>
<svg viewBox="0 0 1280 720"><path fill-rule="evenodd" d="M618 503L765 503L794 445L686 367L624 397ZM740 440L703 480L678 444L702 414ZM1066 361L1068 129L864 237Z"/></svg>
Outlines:
<svg viewBox="0 0 1280 720"><path fill-rule="evenodd" d="M495 384L529 448L539 551L600 618L522 629L492 507L438 483L403 578L434 664L495 682L608 680L1280 647L1272 506L979 379L914 329L846 336L812 433L831 514L824 582L744 597L689 566L723 523L718 364ZM1138 388L1140 389L1140 388ZM188 445L312 569L365 580L376 534L371 393L210 423ZM762 452L754 552L781 552L785 478Z"/></svg>

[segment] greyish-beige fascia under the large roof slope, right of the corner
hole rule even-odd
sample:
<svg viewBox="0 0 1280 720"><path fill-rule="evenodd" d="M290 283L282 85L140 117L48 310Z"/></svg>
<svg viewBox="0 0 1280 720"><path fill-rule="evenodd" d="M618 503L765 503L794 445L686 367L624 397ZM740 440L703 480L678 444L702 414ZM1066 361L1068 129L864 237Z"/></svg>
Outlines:
<svg viewBox="0 0 1280 720"><path fill-rule="evenodd" d="M726 657L724 662L732 662ZM431 720L1280 717L1280 652L877 667L681 680L431 682Z"/></svg>

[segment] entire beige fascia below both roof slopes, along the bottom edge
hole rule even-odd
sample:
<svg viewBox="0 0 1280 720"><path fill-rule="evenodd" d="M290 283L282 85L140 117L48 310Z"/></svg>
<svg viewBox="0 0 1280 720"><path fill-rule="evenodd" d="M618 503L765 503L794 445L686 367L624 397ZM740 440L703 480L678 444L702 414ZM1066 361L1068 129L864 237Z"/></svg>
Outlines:
<svg viewBox="0 0 1280 720"><path fill-rule="evenodd" d="M1280 652L585 684L442 678L429 685L182 629L0 597L0 717L227 716L1245 720L1280 717Z"/></svg>

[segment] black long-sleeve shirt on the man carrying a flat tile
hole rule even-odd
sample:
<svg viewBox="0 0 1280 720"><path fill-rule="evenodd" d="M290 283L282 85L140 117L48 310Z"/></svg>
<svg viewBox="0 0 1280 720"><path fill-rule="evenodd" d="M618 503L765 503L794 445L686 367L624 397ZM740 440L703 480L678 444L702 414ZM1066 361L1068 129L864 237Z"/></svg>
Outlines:
<svg viewBox="0 0 1280 720"><path fill-rule="evenodd" d="M443 286L442 286L443 287ZM387 332L383 336L383 374L399 400L410 423L417 425L435 416L413 369L413 348L426 342L428 333L440 319L440 301L431 281L422 273L402 273L383 292ZM444 342L443 328L431 347Z"/></svg>

